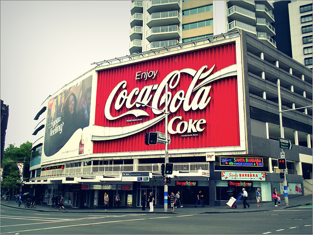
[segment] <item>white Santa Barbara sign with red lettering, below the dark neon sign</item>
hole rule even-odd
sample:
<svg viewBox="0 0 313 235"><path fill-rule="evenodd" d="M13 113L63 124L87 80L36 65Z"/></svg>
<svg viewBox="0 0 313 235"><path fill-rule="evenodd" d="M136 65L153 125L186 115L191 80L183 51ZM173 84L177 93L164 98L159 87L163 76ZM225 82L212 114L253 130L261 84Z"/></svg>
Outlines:
<svg viewBox="0 0 313 235"><path fill-rule="evenodd" d="M222 171L222 180L265 181L265 172Z"/></svg>

